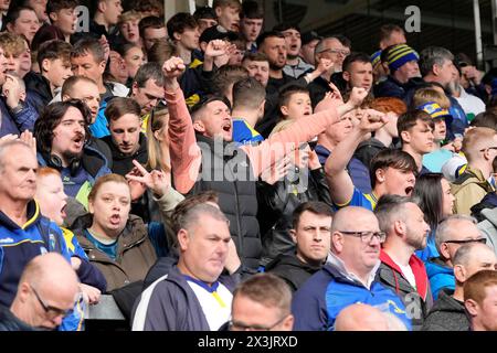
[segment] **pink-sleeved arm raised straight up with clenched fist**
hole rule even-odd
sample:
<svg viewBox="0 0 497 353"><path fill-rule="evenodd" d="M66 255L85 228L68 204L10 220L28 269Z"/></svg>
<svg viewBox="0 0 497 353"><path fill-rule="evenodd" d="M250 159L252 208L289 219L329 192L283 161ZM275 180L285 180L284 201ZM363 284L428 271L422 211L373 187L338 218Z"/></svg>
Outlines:
<svg viewBox="0 0 497 353"><path fill-rule="evenodd" d="M165 98L169 110L168 139L171 169L175 188L182 194L188 193L195 183L201 162L193 124L178 84L178 77L184 69L184 63L179 57L171 57L162 66L166 76Z"/></svg>

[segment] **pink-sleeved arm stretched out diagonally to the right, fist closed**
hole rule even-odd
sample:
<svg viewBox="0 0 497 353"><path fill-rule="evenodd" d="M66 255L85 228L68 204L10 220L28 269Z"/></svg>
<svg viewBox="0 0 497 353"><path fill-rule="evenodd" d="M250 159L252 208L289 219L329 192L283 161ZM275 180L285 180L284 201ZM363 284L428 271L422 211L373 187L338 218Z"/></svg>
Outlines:
<svg viewBox="0 0 497 353"><path fill-rule="evenodd" d="M272 165L276 160L297 148L299 143L307 142L321 133L329 125L338 121L346 113L359 106L364 99L364 88L353 88L347 104L331 104L326 110L310 116L302 117L287 129L273 135L261 145L243 146L242 149L251 159L254 175L258 176L262 171Z"/></svg>

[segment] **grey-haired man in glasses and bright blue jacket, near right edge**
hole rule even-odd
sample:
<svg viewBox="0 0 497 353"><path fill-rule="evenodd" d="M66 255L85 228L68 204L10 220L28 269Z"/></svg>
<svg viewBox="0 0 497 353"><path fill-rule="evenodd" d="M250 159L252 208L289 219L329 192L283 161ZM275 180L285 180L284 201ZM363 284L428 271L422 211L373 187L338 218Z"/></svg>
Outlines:
<svg viewBox="0 0 497 353"><path fill-rule="evenodd" d="M486 240L473 217L452 215L438 224L435 246L440 257L433 257L425 264L434 300L442 289L455 289L454 258L457 249L467 244L486 244Z"/></svg>

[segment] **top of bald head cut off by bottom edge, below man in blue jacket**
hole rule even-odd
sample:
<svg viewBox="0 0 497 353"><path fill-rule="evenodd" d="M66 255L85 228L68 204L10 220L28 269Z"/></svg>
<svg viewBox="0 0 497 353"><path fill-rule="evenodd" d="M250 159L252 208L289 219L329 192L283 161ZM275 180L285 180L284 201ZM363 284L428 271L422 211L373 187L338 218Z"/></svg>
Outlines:
<svg viewBox="0 0 497 353"><path fill-rule="evenodd" d="M405 325L393 314L357 303L340 311L335 331L405 331Z"/></svg>

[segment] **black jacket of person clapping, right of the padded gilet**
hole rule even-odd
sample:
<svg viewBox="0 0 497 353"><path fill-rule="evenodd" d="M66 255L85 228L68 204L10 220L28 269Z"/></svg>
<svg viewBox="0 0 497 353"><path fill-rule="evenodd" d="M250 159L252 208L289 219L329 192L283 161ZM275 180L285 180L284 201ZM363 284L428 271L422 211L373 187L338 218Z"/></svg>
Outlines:
<svg viewBox="0 0 497 353"><path fill-rule="evenodd" d="M292 216L304 202L320 201L331 208L331 199L322 168L299 170L289 173L274 185L257 183L258 222L263 242L263 260L266 265L279 254L293 254Z"/></svg>

